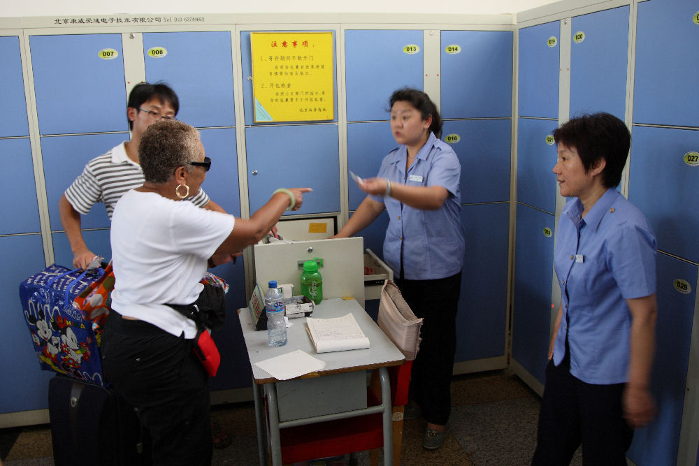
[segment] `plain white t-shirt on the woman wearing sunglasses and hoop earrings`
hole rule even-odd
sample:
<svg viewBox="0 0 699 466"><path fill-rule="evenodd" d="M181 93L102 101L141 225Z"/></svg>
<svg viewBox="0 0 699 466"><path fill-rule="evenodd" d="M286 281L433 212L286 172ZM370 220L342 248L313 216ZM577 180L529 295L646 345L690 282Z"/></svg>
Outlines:
<svg viewBox="0 0 699 466"><path fill-rule="evenodd" d="M233 231L235 217L128 191L112 217L112 308L172 335L196 336L194 322L166 306L194 303L206 261Z"/></svg>

